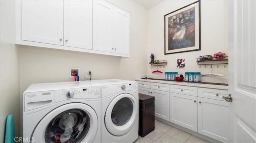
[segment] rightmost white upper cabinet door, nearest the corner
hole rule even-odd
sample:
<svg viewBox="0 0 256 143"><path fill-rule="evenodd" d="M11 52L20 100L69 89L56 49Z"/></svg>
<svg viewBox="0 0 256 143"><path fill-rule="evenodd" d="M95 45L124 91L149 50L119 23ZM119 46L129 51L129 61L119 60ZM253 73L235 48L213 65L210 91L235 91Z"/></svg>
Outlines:
<svg viewBox="0 0 256 143"><path fill-rule="evenodd" d="M129 55L130 14L114 9L114 52Z"/></svg>

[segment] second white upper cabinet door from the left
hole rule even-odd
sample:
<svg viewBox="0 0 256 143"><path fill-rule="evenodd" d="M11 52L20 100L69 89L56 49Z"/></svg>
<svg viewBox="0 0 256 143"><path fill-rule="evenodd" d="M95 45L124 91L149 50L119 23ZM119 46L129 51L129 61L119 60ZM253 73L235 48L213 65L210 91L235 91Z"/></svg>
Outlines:
<svg viewBox="0 0 256 143"><path fill-rule="evenodd" d="M92 0L64 0L64 45L92 49Z"/></svg>

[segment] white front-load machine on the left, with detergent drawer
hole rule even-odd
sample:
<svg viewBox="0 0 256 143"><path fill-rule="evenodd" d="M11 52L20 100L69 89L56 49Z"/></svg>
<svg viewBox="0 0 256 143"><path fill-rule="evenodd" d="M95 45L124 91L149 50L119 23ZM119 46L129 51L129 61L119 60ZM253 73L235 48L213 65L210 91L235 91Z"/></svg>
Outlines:
<svg viewBox="0 0 256 143"><path fill-rule="evenodd" d="M23 94L24 142L100 143L100 86L31 84Z"/></svg>

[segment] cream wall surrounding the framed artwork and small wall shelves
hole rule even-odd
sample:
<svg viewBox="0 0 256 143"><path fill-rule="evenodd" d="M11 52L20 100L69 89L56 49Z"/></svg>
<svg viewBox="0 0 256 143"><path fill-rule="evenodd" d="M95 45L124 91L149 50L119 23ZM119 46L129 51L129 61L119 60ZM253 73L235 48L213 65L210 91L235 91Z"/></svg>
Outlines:
<svg viewBox="0 0 256 143"><path fill-rule="evenodd" d="M166 68L160 71L178 71L183 74L186 71L200 71L201 73L211 72L210 65L206 68L196 63L196 58L202 55L213 55L217 52L225 52L228 55L228 6L224 0L201 0L201 50L185 53L175 53L164 55L164 15L195 0L166 0L148 11L148 61L150 54L154 53L155 59L167 60ZM176 69L177 59L185 59L185 69ZM207 82L228 82L228 66L213 65L212 72L223 74L224 78L216 76L204 77ZM148 74L152 71L148 66ZM159 74L156 74L159 75ZM206 79L207 78L207 79Z"/></svg>

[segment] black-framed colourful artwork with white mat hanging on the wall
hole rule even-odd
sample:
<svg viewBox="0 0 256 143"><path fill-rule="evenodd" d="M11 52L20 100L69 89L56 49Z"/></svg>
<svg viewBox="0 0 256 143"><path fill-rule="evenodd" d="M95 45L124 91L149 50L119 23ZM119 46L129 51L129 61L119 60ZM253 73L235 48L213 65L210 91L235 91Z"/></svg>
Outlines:
<svg viewBox="0 0 256 143"><path fill-rule="evenodd" d="M200 49L200 0L164 15L164 55Z"/></svg>

